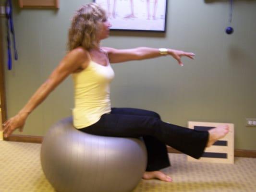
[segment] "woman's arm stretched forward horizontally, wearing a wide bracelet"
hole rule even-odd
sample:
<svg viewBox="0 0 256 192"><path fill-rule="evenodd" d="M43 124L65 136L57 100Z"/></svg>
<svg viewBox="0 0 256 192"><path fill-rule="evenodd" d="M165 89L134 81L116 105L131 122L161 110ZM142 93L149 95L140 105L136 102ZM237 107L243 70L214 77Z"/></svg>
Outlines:
<svg viewBox="0 0 256 192"><path fill-rule="evenodd" d="M195 54L191 52L185 52L170 48L139 47L131 49L115 49L104 47L103 49L108 52L111 63L119 63L130 60L145 60L169 55L172 56L175 60L177 60L179 65L183 66L181 57L185 56L190 59L194 59L195 56Z"/></svg>

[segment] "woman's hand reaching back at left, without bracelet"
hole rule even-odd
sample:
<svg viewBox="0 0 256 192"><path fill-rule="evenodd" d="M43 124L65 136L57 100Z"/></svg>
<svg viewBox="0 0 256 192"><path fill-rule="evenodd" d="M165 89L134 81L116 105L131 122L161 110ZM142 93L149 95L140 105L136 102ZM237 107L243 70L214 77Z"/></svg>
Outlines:
<svg viewBox="0 0 256 192"><path fill-rule="evenodd" d="M20 129L20 132L23 132L23 127L26 121L26 117L27 115L18 113L11 119L6 120L3 123L4 137L9 137L12 134L12 132L14 132L16 129Z"/></svg>

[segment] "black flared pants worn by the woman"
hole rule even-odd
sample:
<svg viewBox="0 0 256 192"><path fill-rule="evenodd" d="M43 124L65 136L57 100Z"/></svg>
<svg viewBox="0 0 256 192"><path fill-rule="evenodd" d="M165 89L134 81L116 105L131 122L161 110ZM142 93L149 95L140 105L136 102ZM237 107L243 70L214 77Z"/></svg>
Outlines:
<svg viewBox="0 0 256 192"><path fill-rule="evenodd" d="M166 144L199 158L208 141L208 132L172 125L155 112L135 108L112 108L97 123L80 130L101 136L143 137L148 157L146 171L170 166Z"/></svg>

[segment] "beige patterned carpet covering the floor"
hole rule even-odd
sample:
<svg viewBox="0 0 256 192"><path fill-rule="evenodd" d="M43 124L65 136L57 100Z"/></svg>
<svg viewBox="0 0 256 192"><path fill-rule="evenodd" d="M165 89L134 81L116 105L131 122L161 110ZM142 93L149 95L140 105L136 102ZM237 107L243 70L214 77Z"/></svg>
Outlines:
<svg viewBox="0 0 256 192"><path fill-rule="evenodd" d="M40 165L41 144L0 141L0 192L54 192ZM256 192L256 158L235 164L187 162L170 154L173 182L141 180L133 192Z"/></svg>

